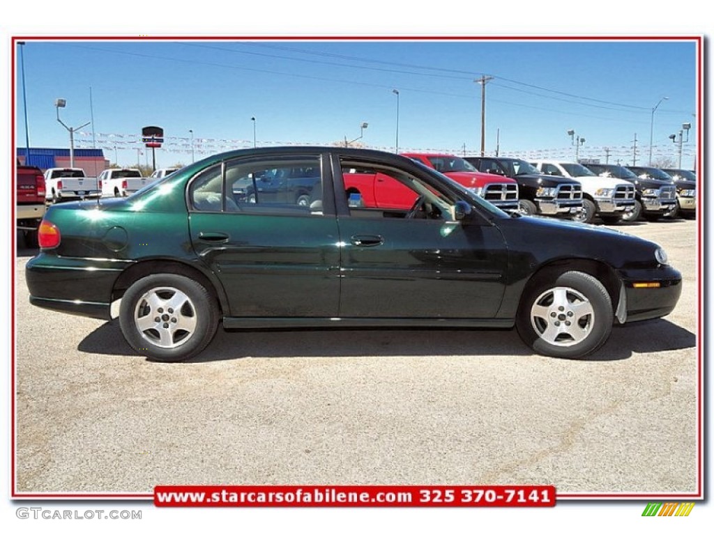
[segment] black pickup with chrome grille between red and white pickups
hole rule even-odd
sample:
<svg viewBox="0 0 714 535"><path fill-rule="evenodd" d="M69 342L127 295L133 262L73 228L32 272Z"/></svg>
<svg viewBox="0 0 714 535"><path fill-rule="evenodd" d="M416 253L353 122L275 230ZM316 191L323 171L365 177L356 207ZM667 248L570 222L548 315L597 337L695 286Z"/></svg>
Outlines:
<svg viewBox="0 0 714 535"><path fill-rule="evenodd" d="M572 178L548 176L519 158L471 156L466 160L482 173L518 182L518 205L525 215L572 217L583 210L583 187Z"/></svg>

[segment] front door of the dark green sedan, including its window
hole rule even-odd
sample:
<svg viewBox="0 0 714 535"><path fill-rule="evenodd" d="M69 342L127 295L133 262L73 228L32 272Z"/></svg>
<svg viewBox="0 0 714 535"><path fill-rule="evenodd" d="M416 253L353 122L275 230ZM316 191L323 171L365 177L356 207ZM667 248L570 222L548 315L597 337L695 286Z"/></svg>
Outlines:
<svg viewBox="0 0 714 535"><path fill-rule="evenodd" d="M453 220L458 198L424 182L417 170L392 163L333 162L335 187L350 168L415 190L418 210L355 206L336 195L341 237L341 317L492 318L506 283L506 246L498 228L485 218ZM423 177L422 177L423 178ZM439 179L443 180L443 179Z"/></svg>

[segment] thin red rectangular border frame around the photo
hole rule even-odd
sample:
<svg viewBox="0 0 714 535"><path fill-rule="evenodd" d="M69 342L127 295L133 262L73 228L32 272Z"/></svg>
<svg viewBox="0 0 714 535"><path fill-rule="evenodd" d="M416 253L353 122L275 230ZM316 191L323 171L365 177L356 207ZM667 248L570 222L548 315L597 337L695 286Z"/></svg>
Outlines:
<svg viewBox="0 0 714 535"><path fill-rule="evenodd" d="M694 41L696 44L696 63L697 63L697 150L695 153L695 164L700 175L704 176L700 170L703 165L703 95L704 95L704 72L703 72L703 36L13 36L11 38L11 148L12 158L10 158L11 169L9 174L12 177L11 188L13 195L16 191L16 105L17 105L17 42L18 41ZM703 207L705 195L703 192L706 188L706 180L699 180L697 188L697 203ZM15 220L15 203L12 203L11 216ZM697 366L698 366L698 417L697 417L697 434L698 434L698 463L697 463L697 491L695 493L678 493L678 494L557 494L557 499L588 499L588 500L612 500L612 499L704 499L703 494L703 467L704 467L704 452L703 452L703 432L704 432L704 368L703 368L703 302L704 302L704 279L703 279L703 235L704 235L704 217L700 210L700 215L697 218L697 286L698 286L698 305L697 305ZM15 421L15 399L16 399L16 384L15 384L15 327L16 327L16 293L15 293L15 268L16 268L16 233L11 233L11 304L12 304L12 320L11 320L11 498L13 499L141 499L152 500L154 494L129 494L129 493L96 493L96 494L80 494L80 493L19 493L16 491L16 421Z"/></svg>

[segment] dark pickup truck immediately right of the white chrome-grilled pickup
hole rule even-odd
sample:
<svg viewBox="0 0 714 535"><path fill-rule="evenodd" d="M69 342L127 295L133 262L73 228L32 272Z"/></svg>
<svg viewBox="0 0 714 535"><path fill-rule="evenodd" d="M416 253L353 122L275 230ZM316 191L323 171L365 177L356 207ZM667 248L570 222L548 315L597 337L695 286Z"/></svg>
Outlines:
<svg viewBox="0 0 714 535"><path fill-rule="evenodd" d="M656 221L675 207L676 194L671 180L641 178L629 168L613 163L588 163L585 167L600 176L622 178L635 185L635 206L623 215L623 221L630 223L640 218Z"/></svg>

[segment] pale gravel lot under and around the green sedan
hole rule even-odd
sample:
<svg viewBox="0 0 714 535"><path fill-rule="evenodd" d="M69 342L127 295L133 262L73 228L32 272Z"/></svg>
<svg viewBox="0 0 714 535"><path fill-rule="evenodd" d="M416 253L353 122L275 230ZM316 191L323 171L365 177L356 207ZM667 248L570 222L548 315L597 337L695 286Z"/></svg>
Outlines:
<svg viewBox="0 0 714 535"><path fill-rule="evenodd" d="M583 361L513 331L223 332L178 365L118 322L31 307L16 267L16 491L156 484L554 484L697 490L696 223L618 227L685 277L673 314Z"/></svg>

